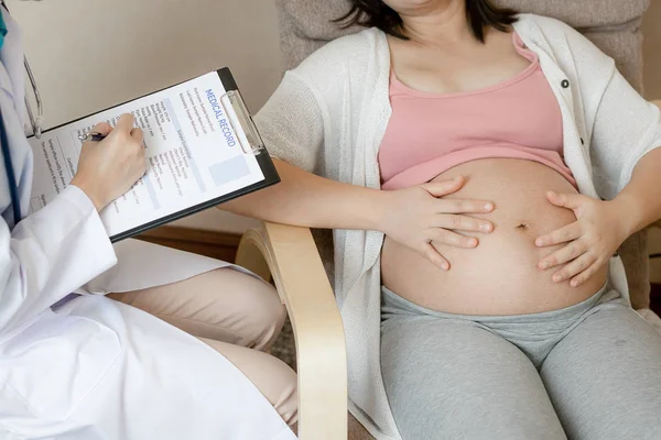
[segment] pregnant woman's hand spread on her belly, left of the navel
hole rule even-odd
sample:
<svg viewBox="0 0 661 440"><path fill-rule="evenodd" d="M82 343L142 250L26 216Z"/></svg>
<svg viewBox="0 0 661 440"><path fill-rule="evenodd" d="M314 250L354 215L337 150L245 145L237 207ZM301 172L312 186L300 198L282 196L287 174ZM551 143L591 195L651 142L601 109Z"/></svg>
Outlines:
<svg viewBox="0 0 661 440"><path fill-rule="evenodd" d="M484 232L494 230L487 220L463 216L494 210L494 204L481 200L443 199L458 191L466 180L457 177L412 188L387 191L388 211L381 221L381 232L422 254L444 271L449 262L432 243L456 248L475 248L478 240L455 231Z"/></svg>

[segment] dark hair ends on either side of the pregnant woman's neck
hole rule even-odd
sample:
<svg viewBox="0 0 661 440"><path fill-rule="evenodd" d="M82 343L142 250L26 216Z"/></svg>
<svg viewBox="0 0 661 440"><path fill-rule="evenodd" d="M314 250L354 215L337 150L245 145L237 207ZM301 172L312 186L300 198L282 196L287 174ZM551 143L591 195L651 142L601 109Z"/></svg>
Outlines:
<svg viewBox="0 0 661 440"><path fill-rule="evenodd" d="M489 0L465 1L466 19L475 37L483 43L485 42L486 26L505 32L510 24L517 21L517 11L497 8ZM401 16L381 0L349 0L349 3L351 3L349 12L335 20L336 23L340 23L342 28L349 28L354 24L375 26L394 37L409 40Z"/></svg>

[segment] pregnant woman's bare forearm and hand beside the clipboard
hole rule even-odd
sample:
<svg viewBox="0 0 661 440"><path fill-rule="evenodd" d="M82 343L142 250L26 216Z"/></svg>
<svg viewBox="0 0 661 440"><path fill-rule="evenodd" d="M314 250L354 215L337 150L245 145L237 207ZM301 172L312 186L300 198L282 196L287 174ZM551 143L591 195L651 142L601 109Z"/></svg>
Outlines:
<svg viewBox="0 0 661 440"><path fill-rule="evenodd" d="M347 185L275 160L281 183L220 206L220 209L279 223L321 229L381 231L420 252L438 267L449 263L432 246L440 242L475 248L477 239L454 230L488 233L487 220L463 216L490 212L492 204L446 200L464 186L463 178L395 191Z"/></svg>

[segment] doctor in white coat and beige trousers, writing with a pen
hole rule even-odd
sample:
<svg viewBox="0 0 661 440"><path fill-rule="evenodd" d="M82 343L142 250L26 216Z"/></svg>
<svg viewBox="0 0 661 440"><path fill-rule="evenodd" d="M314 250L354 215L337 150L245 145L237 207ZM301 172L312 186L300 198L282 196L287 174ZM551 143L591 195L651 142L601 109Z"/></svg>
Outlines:
<svg viewBox="0 0 661 440"><path fill-rule="evenodd" d="M21 33L0 10L0 438L295 438L295 375L259 351L284 320L275 292L227 263L110 244L98 212L145 167L132 117L98 125L72 185L26 215Z"/></svg>

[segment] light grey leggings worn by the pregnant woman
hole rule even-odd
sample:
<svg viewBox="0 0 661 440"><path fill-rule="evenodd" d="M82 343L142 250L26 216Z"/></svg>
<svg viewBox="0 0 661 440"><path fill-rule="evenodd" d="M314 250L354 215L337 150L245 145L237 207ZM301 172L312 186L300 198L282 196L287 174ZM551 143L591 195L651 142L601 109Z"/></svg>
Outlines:
<svg viewBox="0 0 661 440"><path fill-rule="evenodd" d="M511 317L382 297L381 371L403 440L661 439L661 336L617 292Z"/></svg>

